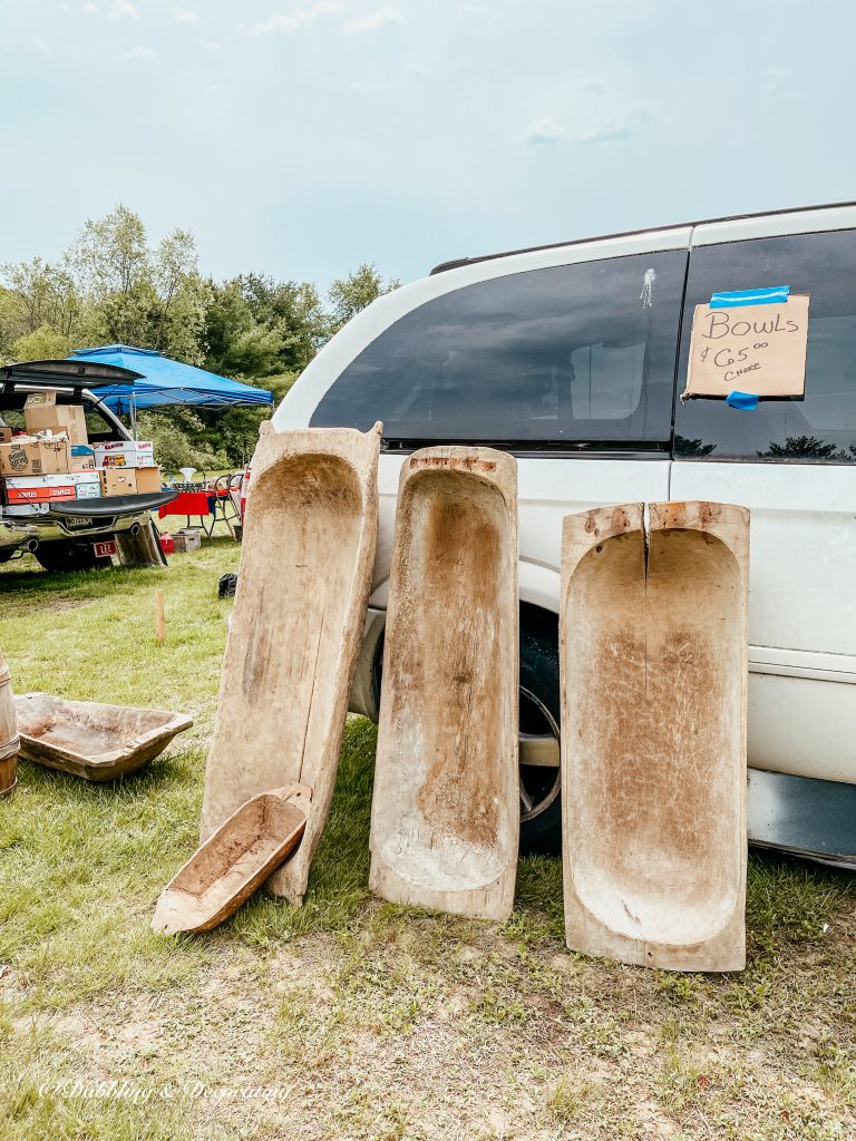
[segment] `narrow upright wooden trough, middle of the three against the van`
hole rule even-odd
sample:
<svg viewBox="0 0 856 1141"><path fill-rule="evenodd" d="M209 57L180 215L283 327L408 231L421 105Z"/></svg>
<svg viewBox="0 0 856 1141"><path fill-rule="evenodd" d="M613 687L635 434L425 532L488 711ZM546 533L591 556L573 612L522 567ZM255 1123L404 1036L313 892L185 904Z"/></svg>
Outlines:
<svg viewBox="0 0 856 1141"><path fill-rule="evenodd" d="M371 828L371 889L506 920L519 833L517 471L490 448L401 475Z"/></svg>

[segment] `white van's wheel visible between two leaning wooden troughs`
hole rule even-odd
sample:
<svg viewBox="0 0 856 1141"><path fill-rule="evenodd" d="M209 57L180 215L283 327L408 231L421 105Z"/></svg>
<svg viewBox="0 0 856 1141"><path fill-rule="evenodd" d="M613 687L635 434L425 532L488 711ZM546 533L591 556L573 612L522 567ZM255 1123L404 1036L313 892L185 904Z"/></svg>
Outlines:
<svg viewBox="0 0 856 1141"><path fill-rule="evenodd" d="M520 852L562 851L559 644L555 614L520 607ZM526 763L530 759L533 763Z"/></svg>

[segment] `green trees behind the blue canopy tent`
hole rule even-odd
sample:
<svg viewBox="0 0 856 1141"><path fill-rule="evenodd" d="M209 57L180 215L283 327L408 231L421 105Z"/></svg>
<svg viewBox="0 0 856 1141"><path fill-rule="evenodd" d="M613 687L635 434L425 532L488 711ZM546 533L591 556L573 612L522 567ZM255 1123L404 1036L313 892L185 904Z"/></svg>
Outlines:
<svg viewBox="0 0 856 1141"><path fill-rule="evenodd" d="M260 388L276 400L321 346L381 293L396 289L362 265L322 294L312 282L259 273L215 281L199 270L193 234L151 245L143 220L118 205L87 220L55 262L0 266L0 359L57 359L76 348L132 345ZM252 453L269 410L145 412L168 469L234 467Z"/></svg>

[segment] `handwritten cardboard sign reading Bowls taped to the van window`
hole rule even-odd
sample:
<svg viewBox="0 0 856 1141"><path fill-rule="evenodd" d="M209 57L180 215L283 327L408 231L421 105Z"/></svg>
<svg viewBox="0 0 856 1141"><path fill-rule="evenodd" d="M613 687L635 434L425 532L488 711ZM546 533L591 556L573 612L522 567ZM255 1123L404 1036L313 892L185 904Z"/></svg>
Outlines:
<svg viewBox="0 0 856 1141"><path fill-rule="evenodd" d="M807 342L807 293L773 305L697 305L684 396L803 396Z"/></svg>

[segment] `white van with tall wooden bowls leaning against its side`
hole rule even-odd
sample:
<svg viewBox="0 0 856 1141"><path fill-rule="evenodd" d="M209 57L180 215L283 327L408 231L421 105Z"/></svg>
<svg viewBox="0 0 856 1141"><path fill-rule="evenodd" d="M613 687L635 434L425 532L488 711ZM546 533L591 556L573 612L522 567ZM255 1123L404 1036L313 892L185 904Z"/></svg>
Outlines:
<svg viewBox="0 0 856 1141"><path fill-rule="evenodd" d="M679 399L694 307L810 294L805 397ZM380 537L352 695L377 719L398 471L433 444L517 458L522 839L558 843L562 519L607 503L752 512L749 830L856 860L856 205L465 258L380 298L306 369L277 429L383 422ZM628 726L632 733L632 726Z"/></svg>

